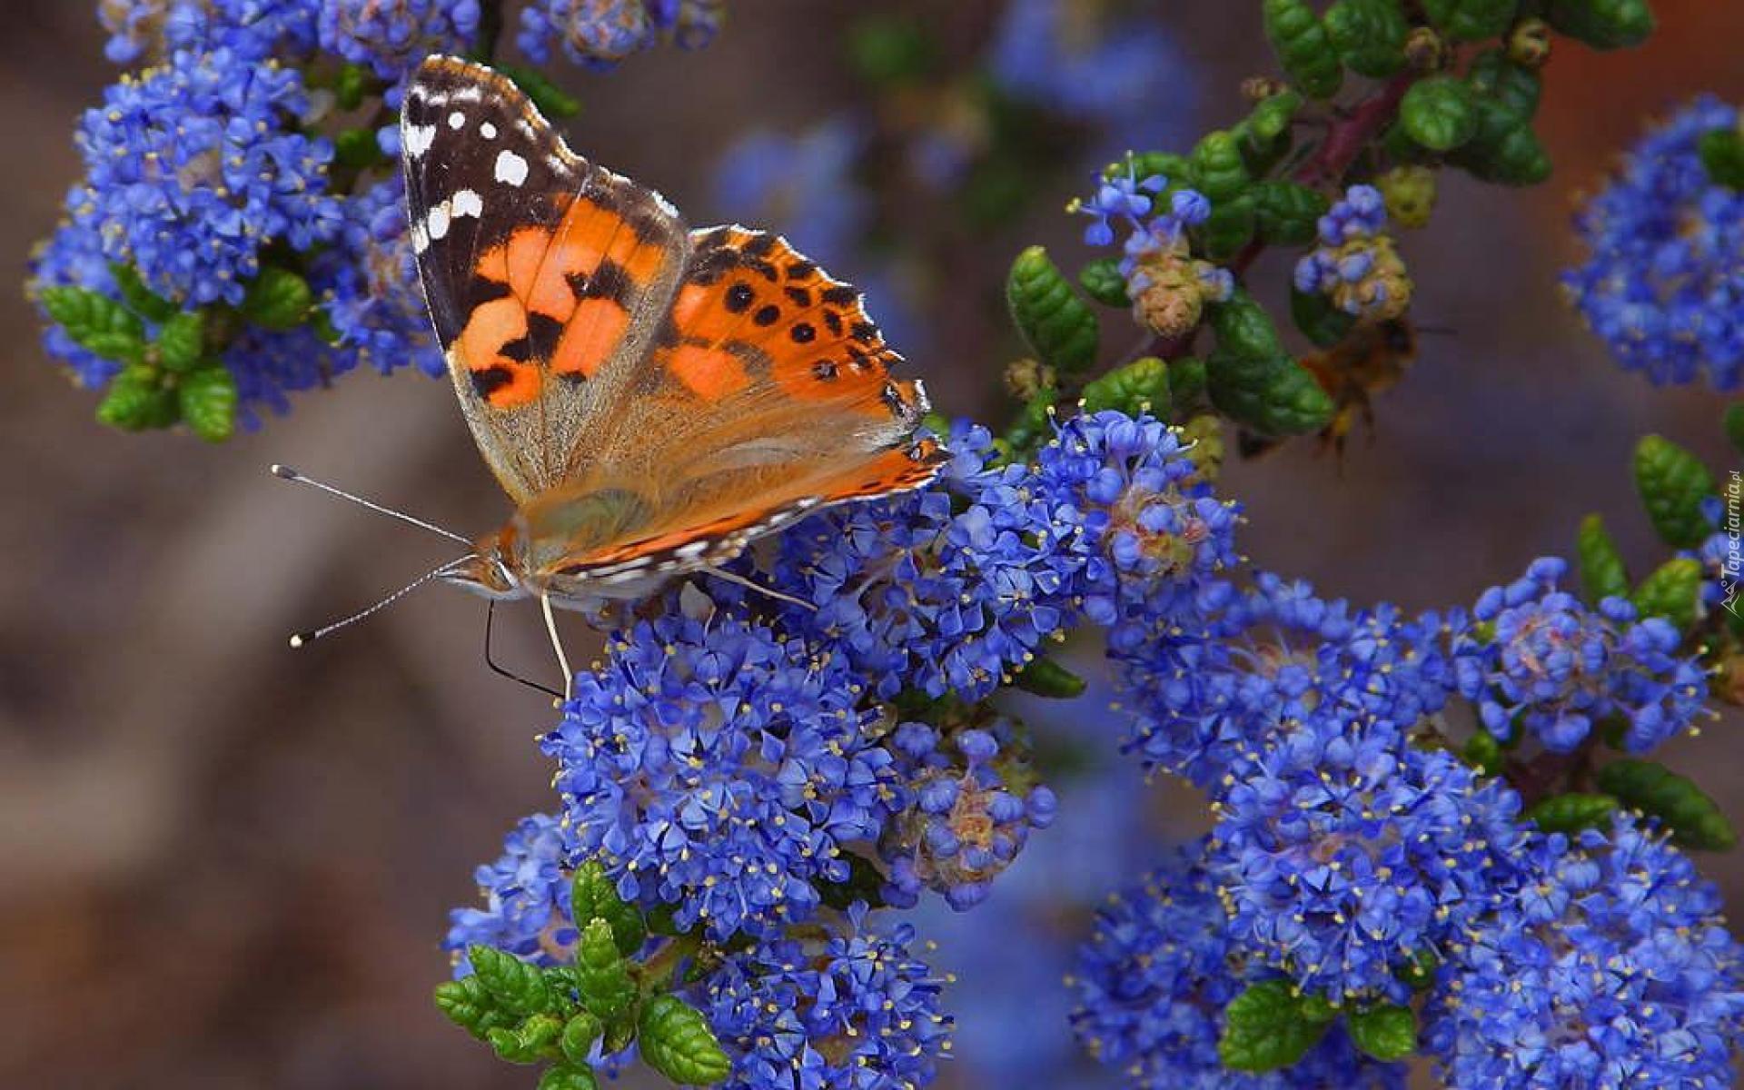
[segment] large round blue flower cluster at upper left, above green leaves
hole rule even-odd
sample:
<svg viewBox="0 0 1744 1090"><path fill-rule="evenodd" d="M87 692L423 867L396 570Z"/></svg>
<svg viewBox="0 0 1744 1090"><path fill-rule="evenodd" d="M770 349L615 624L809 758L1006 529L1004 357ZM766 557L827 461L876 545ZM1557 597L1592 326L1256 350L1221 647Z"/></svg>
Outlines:
<svg viewBox="0 0 1744 1090"><path fill-rule="evenodd" d="M263 246L307 251L338 234L333 148L291 127L307 108L295 70L178 52L85 112L87 176L68 209L159 295L241 303Z"/></svg>

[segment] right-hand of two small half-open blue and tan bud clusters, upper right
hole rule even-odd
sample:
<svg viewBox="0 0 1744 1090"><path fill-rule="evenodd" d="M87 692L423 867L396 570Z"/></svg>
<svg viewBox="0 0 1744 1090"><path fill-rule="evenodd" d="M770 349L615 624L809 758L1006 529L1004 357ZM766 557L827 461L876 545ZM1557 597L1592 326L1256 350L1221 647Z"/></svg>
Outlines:
<svg viewBox="0 0 1744 1090"><path fill-rule="evenodd" d="M1386 234L1386 199L1353 185L1320 216L1320 242L1296 262L1296 290L1325 295L1366 321L1400 317L1411 307L1411 277Z"/></svg>

